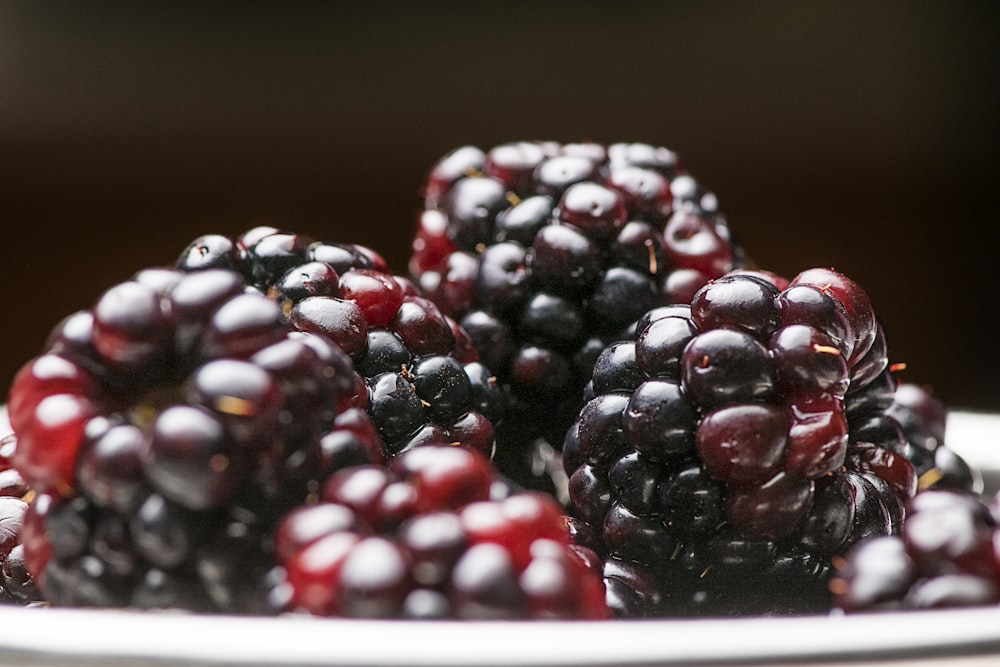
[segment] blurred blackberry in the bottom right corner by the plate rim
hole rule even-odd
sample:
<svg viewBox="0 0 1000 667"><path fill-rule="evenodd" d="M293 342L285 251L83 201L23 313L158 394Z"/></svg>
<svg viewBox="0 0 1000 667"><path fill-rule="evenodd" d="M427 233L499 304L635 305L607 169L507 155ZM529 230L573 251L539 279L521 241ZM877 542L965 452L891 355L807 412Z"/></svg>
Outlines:
<svg viewBox="0 0 1000 667"><path fill-rule="evenodd" d="M830 587L847 612L1000 605L1000 494L918 494L902 534L855 546Z"/></svg>

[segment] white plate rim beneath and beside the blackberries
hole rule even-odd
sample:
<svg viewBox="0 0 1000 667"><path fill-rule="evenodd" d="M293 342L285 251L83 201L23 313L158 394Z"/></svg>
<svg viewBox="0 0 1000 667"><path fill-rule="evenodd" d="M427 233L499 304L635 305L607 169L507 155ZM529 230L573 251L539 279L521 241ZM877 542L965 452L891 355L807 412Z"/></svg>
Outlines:
<svg viewBox="0 0 1000 667"><path fill-rule="evenodd" d="M948 446L1000 489L1000 416ZM0 607L0 666L1000 666L1000 607L853 616L413 622Z"/></svg>

